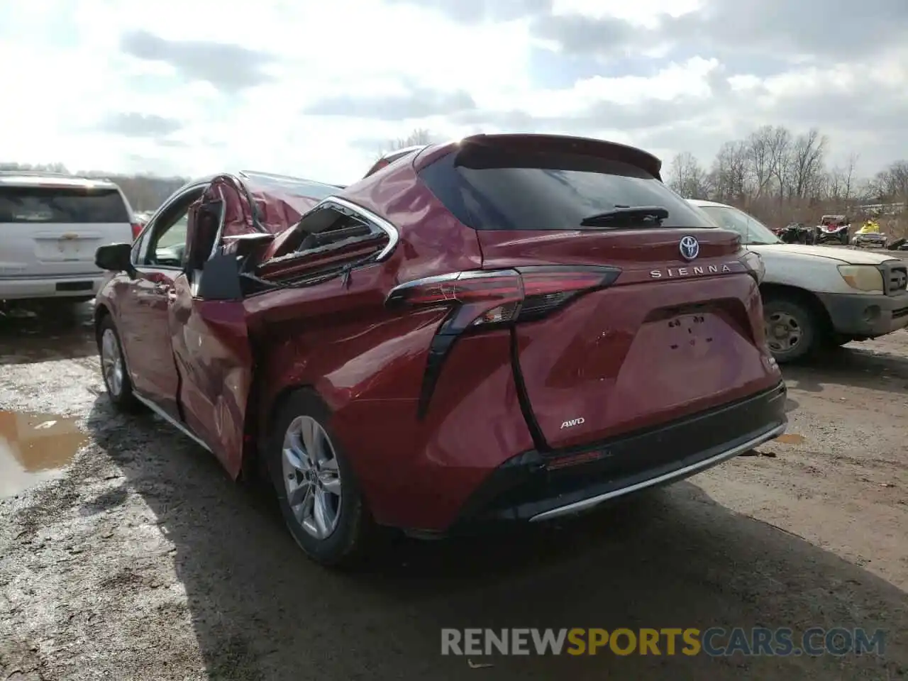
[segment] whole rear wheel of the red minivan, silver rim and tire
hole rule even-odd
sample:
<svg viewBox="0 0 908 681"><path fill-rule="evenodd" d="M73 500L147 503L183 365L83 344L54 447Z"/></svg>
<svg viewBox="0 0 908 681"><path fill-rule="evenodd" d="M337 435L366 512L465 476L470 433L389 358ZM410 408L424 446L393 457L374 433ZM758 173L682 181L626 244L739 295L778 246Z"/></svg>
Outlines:
<svg viewBox="0 0 908 681"><path fill-rule="evenodd" d="M330 418L310 390L291 394L274 422L268 468L297 545L315 562L340 568L362 557L374 524Z"/></svg>

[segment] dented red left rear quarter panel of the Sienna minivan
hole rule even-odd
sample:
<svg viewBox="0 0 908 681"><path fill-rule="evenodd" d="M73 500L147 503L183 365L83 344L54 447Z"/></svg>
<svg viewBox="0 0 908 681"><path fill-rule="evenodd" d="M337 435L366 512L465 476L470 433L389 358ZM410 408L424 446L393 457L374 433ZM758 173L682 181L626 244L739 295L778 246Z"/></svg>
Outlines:
<svg viewBox="0 0 908 681"><path fill-rule="evenodd" d="M439 489L471 489L502 457L532 447L525 428L495 426L523 422L509 336L459 341L444 369L457 380L441 381L433 409L417 419L429 342L448 310L391 311L384 301L401 282L481 267L476 232L441 206L411 163L382 169L338 195L391 222L399 242L386 260L351 271L346 282L338 277L243 301L256 358L250 426L270 432L283 396L315 390L367 483L373 515L391 525L419 518L421 528L442 528L464 499L452 491L439 503ZM462 362L469 371L458 369ZM408 494L396 493L404 488Z"/></svg>

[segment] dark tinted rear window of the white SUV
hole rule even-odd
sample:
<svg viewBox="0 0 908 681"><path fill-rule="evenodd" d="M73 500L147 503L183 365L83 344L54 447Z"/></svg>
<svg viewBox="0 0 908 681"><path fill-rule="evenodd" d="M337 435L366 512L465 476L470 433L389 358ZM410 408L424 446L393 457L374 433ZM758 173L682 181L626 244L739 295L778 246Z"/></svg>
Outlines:
<svg viewBox="0 0 908 681"><path fill-rule="evenodd" d="M0 222L130 222L115 189L0 186Z"/></svg>

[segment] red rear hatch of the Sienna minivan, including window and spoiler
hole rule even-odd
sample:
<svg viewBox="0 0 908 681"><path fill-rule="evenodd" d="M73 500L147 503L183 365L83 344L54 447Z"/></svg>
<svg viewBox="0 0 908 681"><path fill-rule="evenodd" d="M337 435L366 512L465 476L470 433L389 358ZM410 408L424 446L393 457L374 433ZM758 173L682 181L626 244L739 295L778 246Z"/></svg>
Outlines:
<svg viewBox="0 0 908 681"><path fill-rule="evenodd" d="M777 382L740 238L670 191L656 158L507 138L464 145L420 178L476 230L484 269L523 273L513 361L540 449L651 428Z"/></svg>

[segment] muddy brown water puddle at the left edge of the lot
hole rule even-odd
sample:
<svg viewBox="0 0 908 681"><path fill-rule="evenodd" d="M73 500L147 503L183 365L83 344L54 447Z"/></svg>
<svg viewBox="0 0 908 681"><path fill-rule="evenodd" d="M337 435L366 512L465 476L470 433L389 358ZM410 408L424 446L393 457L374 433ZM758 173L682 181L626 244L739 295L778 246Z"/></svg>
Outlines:
<svg viewBox="0 0 908 681"><path fill-rule="evenodd" d="M56 477L87 440L75 419L0 411L0 498Z"/></svg>

